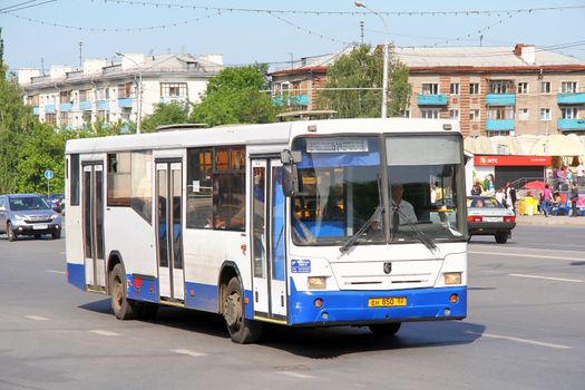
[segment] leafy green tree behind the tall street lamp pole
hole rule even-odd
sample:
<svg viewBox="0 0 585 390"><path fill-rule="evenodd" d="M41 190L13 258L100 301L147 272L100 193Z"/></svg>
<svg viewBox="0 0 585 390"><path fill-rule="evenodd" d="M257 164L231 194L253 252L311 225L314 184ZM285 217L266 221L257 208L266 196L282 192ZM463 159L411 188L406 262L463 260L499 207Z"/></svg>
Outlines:
<svg viewBox="0 0 585 390"><path fill-rule="evenodd" d="M328 69L326 88L319 92L319 106L338 111L341 118L380 117L382 101L383 52L370 45L358 45L340 56ZM408 67L396 58L389 62L388 113L400 115L410 99ZM361 89L360 89L361 88ZM373 89L372 89L373 88Z"/></svg>

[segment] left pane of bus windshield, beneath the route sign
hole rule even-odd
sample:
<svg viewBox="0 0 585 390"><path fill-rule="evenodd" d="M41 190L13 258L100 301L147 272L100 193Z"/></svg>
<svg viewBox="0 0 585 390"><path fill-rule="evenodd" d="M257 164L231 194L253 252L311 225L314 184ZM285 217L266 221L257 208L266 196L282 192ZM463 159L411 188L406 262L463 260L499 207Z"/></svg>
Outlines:
<svg viewBox="0 0 585 390"><path fill-rule="evenodd" d="M340 244L370 220L382 204L380 147L377 137L299 138L299 194L292 198L295 244ZM380 213L379 213L380 214ZM381 218L369 242L384 242Z"/></svg>

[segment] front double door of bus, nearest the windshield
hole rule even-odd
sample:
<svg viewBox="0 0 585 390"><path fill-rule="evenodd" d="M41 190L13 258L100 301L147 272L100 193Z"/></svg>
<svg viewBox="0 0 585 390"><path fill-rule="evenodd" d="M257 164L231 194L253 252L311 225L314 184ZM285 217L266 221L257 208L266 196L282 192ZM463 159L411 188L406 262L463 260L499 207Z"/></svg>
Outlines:
<svg viewBox="0 0 585 390"><path fill-rule="evenodd" d="M254 316L286 322L285 197L279 159L253 159L252 261Z"/></svg>

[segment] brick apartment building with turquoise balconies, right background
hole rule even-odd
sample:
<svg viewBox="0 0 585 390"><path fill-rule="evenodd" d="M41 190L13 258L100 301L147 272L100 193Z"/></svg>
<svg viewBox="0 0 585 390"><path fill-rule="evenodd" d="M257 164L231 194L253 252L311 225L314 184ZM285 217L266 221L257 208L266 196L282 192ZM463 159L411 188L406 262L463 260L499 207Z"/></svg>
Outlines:
<svg viewBox="0 0 585 390"><path fill-rule="evenodd" d="M412 95L404 116L457 119L470 136L585 134L585 60L520 43L391 51L410 69ZM320 67L326 69L335 58L323 56ZM275 98L286 90L283 85L309 81L304 67L272 77ZM320 77L322 86L325 77ZM306 88L308 96L314 95L310 82ZM296 110L315 108L314 98L299 101L306 105Z"/></svg>

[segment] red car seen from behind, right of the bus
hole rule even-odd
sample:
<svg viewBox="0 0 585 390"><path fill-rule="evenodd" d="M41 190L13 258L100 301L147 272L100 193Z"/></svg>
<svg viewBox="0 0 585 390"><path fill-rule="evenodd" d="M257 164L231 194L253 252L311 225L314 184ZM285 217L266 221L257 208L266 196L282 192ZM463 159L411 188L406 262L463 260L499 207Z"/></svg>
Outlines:
<svg viewBox="0 0 585 390"><path fill-rule="evenodd" d="M493 196L468 196L467 226L469 238L493 235L498 244L505 244L516 226L516 216Z"/></svg>

